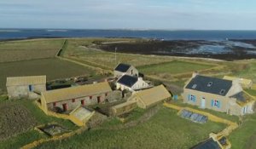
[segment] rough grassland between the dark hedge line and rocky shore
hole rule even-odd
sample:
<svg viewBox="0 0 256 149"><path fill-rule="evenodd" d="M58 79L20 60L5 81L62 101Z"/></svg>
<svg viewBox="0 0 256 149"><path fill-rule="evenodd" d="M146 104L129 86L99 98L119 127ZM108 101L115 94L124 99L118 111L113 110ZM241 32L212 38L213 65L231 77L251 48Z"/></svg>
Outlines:
<svg viewBox="0 0 256 149"><path fill-rule="evenodd" d="M78 58L79 60L86 60L90 63L96 63L99 66L108 67L113 70L116 66L114 49L113 53L104 52L99 49L92 49L90 45L97 40L115 41L120 39L68 39L68 46L65 51L64 57ZM138 39L121 39L121 40L138 40ZM117 51L118 52L118 51ZM149 64L157 64L165 61L170 61L170 57L156 56L156 55L143 55L143 54L120 54L117 53L117 63L125 62L134 66L143 66Z"/></svg>

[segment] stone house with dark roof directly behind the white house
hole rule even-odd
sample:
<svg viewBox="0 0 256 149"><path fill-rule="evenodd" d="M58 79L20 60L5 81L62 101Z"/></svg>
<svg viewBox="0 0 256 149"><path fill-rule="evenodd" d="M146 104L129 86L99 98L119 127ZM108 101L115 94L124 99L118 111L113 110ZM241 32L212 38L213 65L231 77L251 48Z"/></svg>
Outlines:
<svg viewBox="0 0 256 149"><path fill-rule="evenodd" d="M116 66L113 70L113 77L119 78L125 74L135 77L139 76L137 69L129 64L119 63L119 65Z"/></svg>

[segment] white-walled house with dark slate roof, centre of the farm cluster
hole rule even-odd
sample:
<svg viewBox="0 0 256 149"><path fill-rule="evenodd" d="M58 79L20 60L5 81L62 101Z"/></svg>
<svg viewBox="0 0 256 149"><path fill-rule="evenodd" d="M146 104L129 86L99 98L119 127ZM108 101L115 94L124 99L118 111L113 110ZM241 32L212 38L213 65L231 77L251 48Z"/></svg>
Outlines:
<svg viewBox="0 0 256 149"><path fill-rule="evenodd" d="M123 75L119 77L116 82L116 89L121 90L140 90L140 89L148 89L149 84L143 80L143 77L135 77L130 75Z"/></svg>

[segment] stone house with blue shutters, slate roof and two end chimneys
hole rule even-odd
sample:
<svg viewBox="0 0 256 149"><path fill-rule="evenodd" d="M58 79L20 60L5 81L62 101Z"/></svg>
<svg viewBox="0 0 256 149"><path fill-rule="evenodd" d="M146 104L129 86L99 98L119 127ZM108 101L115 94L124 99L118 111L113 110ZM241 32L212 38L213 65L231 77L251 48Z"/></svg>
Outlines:
<svg viewBox="0 0 256 149"><path fill-rule="evenodd" d="M240 83L196 73L183 88L183 102L226 112L231 115L244 115L253 112L255 100L243 92Z"/></svg>

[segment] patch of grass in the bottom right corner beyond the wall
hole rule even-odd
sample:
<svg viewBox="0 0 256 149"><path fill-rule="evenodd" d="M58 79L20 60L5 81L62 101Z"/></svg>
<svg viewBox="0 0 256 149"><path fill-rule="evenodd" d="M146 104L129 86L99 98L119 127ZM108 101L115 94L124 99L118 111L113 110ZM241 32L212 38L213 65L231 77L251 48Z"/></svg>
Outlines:
<svg viewBox="0 0 256 149"><path fill-rule="evenodd" d="M229 136L232 149L254 149L256 146L256 114L243 117L243 123Z"/></svg>

